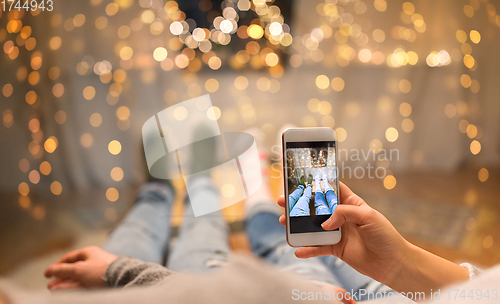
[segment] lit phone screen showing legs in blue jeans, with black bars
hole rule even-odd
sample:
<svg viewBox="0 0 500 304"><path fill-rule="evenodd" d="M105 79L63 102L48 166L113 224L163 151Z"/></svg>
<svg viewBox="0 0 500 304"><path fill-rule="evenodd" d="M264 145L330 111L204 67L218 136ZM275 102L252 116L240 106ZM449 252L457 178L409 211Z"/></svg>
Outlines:
<svg viewBox="0 0 500 304"><path fill-rule="evenodd" d="M286 142L290 233L325 231L321 224L337 208L338 170L335 143Z"/></svg>

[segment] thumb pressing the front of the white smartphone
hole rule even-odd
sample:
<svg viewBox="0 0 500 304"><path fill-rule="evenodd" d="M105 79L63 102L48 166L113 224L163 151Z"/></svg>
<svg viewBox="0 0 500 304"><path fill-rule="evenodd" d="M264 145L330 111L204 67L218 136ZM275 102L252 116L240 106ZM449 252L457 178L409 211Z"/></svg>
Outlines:
<svg viewBox="0 0 500 304"><path fill-rule="evenodd" d="M344 225L346 222L355 223L359 226L368 223L368 218L373 209L368 205L338 205L332 216L321 227L325 230L334 230Z"/></svg>

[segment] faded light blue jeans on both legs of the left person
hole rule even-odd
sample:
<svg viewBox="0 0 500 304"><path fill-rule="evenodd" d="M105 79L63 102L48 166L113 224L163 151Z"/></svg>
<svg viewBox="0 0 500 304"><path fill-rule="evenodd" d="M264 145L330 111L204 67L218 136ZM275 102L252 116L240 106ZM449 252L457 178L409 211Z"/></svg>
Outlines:
<svg viewBox="0 0 500 304"><path fill-rule="evenodd" d="M208 177L190 181L196 195L219 201ZM139 189L137 202L103 246L116 255L127 255L145 262L165 265L171 241L173 189L162 182L150 182ZM229 228L220 212L194 217L186 198L184 221L166 265L177 272L198 273L223 265L230 252Z"/></svg>

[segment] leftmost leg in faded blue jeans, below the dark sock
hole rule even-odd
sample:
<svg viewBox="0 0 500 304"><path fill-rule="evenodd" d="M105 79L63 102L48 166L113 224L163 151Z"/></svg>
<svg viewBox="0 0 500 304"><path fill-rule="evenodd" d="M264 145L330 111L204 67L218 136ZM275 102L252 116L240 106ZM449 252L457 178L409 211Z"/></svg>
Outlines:
<svg viewBox="0 0 500 304"><path fill-rule="evenodd" d="M116 255L162 264L170 238L173 201L174 191L169 183L145 183L132 210L102 248Z"/></svg>

